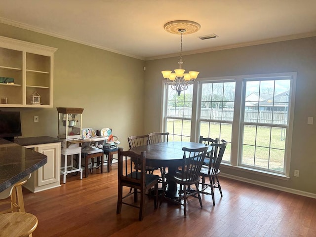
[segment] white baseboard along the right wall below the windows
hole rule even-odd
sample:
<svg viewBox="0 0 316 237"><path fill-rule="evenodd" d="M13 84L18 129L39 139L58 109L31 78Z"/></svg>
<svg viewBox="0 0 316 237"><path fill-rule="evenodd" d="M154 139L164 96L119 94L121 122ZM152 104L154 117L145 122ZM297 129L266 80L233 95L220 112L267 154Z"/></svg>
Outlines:
<svg viewBox="0 0 316 237"><path fill-rule="evenodd" d="M297 194L297 195L301 195L301 196L305 196L305 197L316 198L316 194L313 194L313 193L308 193L308 192L304 192L304 191L300 191L300 190L296 190L296 189L285 188L285 187L282 187L282 186L269 184L269 183L264 183L264 182L260 182L260 181L256 181L256 180L252 180L252 179L242 178L242 177L231 175L231 174L226 174L226 173L222 173L221 172L220 176L223 176L223 177L226 177L226 178L229 178L229 179L242 181L242 182L245 182L245 183L250 183L250 184L263 186L263 187L266 187L266 188L276 189L276 190L287 192L287 193L291 193L291 194Z"/></svg>

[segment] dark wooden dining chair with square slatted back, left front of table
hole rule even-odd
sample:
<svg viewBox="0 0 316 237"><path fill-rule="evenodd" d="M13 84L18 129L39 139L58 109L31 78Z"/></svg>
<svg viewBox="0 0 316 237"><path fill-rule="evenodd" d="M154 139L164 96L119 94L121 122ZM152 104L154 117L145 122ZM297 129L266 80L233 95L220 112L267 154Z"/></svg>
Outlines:
<svg viewBox="0 0 316 237"><path fill-rule="evenodd" d="M133 168L135 164L135 169ZM155 186L154 206L157 209L158 204L158 175L146 173L146 152L136 154L132 151L123 151L118 149L118 206L117 214L121 212L122 204L139 208L138 220L143 219L145 209L145 194ZM133 193L123 196L123 186L134 189ZM140 192L138 192L138 190ZM123 201L124 198L134 195L134 202L138 201L140 194L140 204L136 205Z"/></svg>

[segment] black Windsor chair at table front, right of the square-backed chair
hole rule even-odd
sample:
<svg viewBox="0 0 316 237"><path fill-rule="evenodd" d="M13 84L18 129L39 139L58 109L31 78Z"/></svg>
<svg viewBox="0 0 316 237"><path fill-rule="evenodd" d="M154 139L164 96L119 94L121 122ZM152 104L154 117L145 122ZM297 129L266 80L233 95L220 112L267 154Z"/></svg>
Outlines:
<svg viewBox="0 0 316 237"><path fill-rule="evenodd" d="M184 206L184 217L187 216L187 198L193 196L198 198L201 208L202 200L198 190L199 173L205 158L208 147L202 147L198 149L182 148L184 151L181 170L175 173L167 173L165 175L166 185L163 187L162 198L160 199L160 205L162 199L165 197L166 186L169 181L173 181L180 185L179 190L179 204ZM191 189L191 185L196 186L196 190ZM183 203L182 200L183 199Z"/></svg>

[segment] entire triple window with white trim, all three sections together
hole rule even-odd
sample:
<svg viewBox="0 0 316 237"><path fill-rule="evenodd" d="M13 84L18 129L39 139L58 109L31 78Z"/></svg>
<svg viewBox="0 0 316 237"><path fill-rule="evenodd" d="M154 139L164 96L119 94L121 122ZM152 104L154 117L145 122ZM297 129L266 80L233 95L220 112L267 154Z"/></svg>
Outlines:
<svg viewBox="0 0 316 237"><path fill-rule="evenodd" d="M296 73L203 79L180 96L166 85L162 124L173 141L228 141L232 166L288 176L295 83Z"/></svg>

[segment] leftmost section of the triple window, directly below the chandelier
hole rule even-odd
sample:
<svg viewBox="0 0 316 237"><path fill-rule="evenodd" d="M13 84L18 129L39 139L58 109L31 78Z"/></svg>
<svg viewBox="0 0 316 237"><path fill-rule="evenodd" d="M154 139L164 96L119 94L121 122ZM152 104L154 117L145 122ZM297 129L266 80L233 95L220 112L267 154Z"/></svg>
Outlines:
<svg viewBox="0 0 316 237"><path fill-rule="evenodd" d="M166 131L170 133L170 141L190 141L193 86L182 91L178 96L171 85L166 86L166 116L164 123Z"/></svg>

